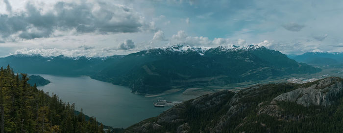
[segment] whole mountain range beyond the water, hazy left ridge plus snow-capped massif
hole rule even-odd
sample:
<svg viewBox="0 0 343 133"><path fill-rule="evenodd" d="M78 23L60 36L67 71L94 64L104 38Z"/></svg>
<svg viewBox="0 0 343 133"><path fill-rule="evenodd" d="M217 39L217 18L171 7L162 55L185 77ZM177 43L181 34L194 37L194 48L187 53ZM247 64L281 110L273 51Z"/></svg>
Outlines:
<svg viewBox="0 0 343 133"><path fill-rule="evenodd" d="M298 63L279 51L255 45L192 47L179 44L126 56L12 55L0 58L0 66L8 64L21 73L91 76L115 85L128 86L138 94L158 94L194 86L223 86L320 71L305 63Z"/></svg>

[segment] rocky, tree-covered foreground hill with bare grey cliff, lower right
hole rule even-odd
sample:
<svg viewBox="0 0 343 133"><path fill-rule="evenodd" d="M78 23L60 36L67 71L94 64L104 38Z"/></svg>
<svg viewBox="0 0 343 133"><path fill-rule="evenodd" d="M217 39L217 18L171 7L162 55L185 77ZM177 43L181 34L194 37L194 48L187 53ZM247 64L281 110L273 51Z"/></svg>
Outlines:
<svg viewBox="0 0 343 133"><path fill-rule="evenodd" d="M324 126L323 120L343 117L342 84L342 78L329 77L203 95L137 123L125 133L306 133L313 128L325 132L330 126Z"/></svg>

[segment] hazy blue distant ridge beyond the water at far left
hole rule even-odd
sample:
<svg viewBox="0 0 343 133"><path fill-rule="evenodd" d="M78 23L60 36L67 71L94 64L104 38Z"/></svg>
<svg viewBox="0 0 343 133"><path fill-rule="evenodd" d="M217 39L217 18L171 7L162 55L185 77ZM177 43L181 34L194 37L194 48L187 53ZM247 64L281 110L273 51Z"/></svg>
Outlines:
<svg viewBox="0 0 343 133"><path fill-rule="evenodd" d="M8 64L14 70L31 74L93 75L115 63L123 56L110 57L43 57L41 55L11 55L0 58L0 66Z"/></svg>

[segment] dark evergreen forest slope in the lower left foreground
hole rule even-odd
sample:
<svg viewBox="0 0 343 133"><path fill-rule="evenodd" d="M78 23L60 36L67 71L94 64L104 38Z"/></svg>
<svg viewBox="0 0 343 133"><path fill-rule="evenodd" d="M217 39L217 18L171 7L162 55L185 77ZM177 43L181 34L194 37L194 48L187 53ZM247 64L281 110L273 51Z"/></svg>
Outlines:
<svg viewBox="0 0 343 133"><path fill-rule="evenodd" d="M74 114L74 104L62 102L27 83L26 74L0 69L0 133L105 133L95 117Z"/></svg>

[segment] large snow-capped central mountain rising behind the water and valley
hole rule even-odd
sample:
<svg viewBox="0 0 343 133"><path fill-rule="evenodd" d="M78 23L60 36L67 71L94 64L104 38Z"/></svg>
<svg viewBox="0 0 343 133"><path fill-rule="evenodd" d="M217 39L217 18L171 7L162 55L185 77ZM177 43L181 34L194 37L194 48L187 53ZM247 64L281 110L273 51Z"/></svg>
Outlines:
<svg viewBox="0 0 343 133"><path fill-rule="evenodd" d="M266 47L174 45L129 54L91 77L129 86L134 93L156 94L178 87L226 85L319 71Z"/></svg>

